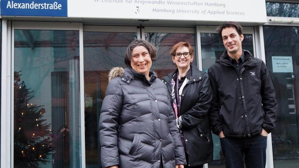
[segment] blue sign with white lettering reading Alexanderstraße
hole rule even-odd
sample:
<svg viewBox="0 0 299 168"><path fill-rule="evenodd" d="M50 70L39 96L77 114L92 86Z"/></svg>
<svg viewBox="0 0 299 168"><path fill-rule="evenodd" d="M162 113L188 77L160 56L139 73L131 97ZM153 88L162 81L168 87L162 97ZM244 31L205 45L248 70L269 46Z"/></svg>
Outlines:
<svg viewBox="0 0 299 168"><path fill-rule="evenodd" d="M1 16L68 16L68 0L1 0Z"/></svg>

